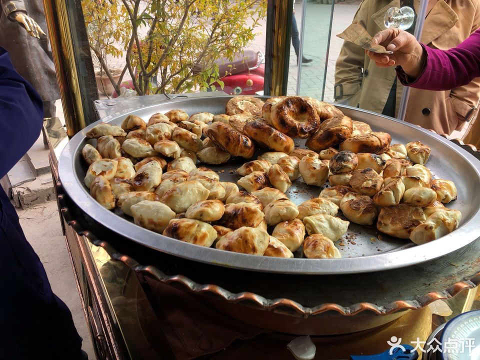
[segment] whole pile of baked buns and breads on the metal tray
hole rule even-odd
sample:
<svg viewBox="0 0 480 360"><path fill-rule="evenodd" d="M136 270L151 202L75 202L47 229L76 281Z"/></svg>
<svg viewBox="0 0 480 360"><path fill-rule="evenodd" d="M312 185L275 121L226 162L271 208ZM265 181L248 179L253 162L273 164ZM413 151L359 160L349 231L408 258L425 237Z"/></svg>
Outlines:
<svg viewBox="0 0 480 360"><path fill-rule="evenodd" d="M425 166L427 145L391 144L388 133L310 97L237 96L224 114L176 109L147 122L128 115L121 126L99 123L86 136L96 139L82 149L84 183L96 201L201 246L334 258L350 221L422 244L461 219L444 206L456 199L455 184ZM295 147L297 138L307 148ZM206 167L233 156L247 159L236 183ZM318 191L295 204L285 192L300 178Z"/></svg>

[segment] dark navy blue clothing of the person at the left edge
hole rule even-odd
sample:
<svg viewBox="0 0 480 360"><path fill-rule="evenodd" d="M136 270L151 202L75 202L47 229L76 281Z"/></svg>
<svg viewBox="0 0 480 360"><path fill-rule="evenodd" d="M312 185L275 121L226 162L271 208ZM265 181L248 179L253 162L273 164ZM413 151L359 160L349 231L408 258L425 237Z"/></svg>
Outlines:
<svg viewBox="0 0 480 360"><path fill-rule="evenodd" d="M0 177L40 134L42 102L0 47ZM77 360L81 338L0 187L0 360Z"/></svg>

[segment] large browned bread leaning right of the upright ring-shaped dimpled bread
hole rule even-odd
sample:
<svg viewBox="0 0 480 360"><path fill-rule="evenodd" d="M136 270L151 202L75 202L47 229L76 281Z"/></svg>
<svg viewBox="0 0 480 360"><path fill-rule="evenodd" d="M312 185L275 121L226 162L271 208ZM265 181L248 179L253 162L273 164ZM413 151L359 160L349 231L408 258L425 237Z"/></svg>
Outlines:
<svg viewBox="0 0 480 360"><path fill-rule="evenodd" d="M347 139L351 131L351 118L344 115L333 116L321 123L320 129L306 140L305 145L314 151L324 150Z"/></svg>

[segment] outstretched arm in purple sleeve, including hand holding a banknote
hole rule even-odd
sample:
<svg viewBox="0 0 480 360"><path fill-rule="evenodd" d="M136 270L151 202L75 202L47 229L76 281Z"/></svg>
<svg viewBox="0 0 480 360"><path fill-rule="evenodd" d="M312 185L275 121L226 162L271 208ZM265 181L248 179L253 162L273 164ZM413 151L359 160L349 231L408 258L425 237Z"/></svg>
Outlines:
<svg viewBox="0 0 480 360"><path fill-rule="evenodd" d="M403 85L448 90L480 76L480 29L449 50L425 46L413 35L396 28L380 31L373 39L393 54L366 51L367 55L377 66L396 65L398 79Z"/></svg>

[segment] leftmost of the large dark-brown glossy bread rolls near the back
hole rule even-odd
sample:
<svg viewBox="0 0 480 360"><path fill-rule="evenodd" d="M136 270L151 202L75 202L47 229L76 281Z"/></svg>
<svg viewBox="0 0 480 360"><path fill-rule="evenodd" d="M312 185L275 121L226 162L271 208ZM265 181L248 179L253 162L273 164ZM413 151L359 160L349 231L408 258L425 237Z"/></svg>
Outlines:
<svg viewBox="0 0 480 360"><path fill-rule="evenodd" d="M231 126L223 122L211 123L205 128L205 133L216 146L233 156L250 158L255 152L255 146L247 136L233 130Z"/></svg>

